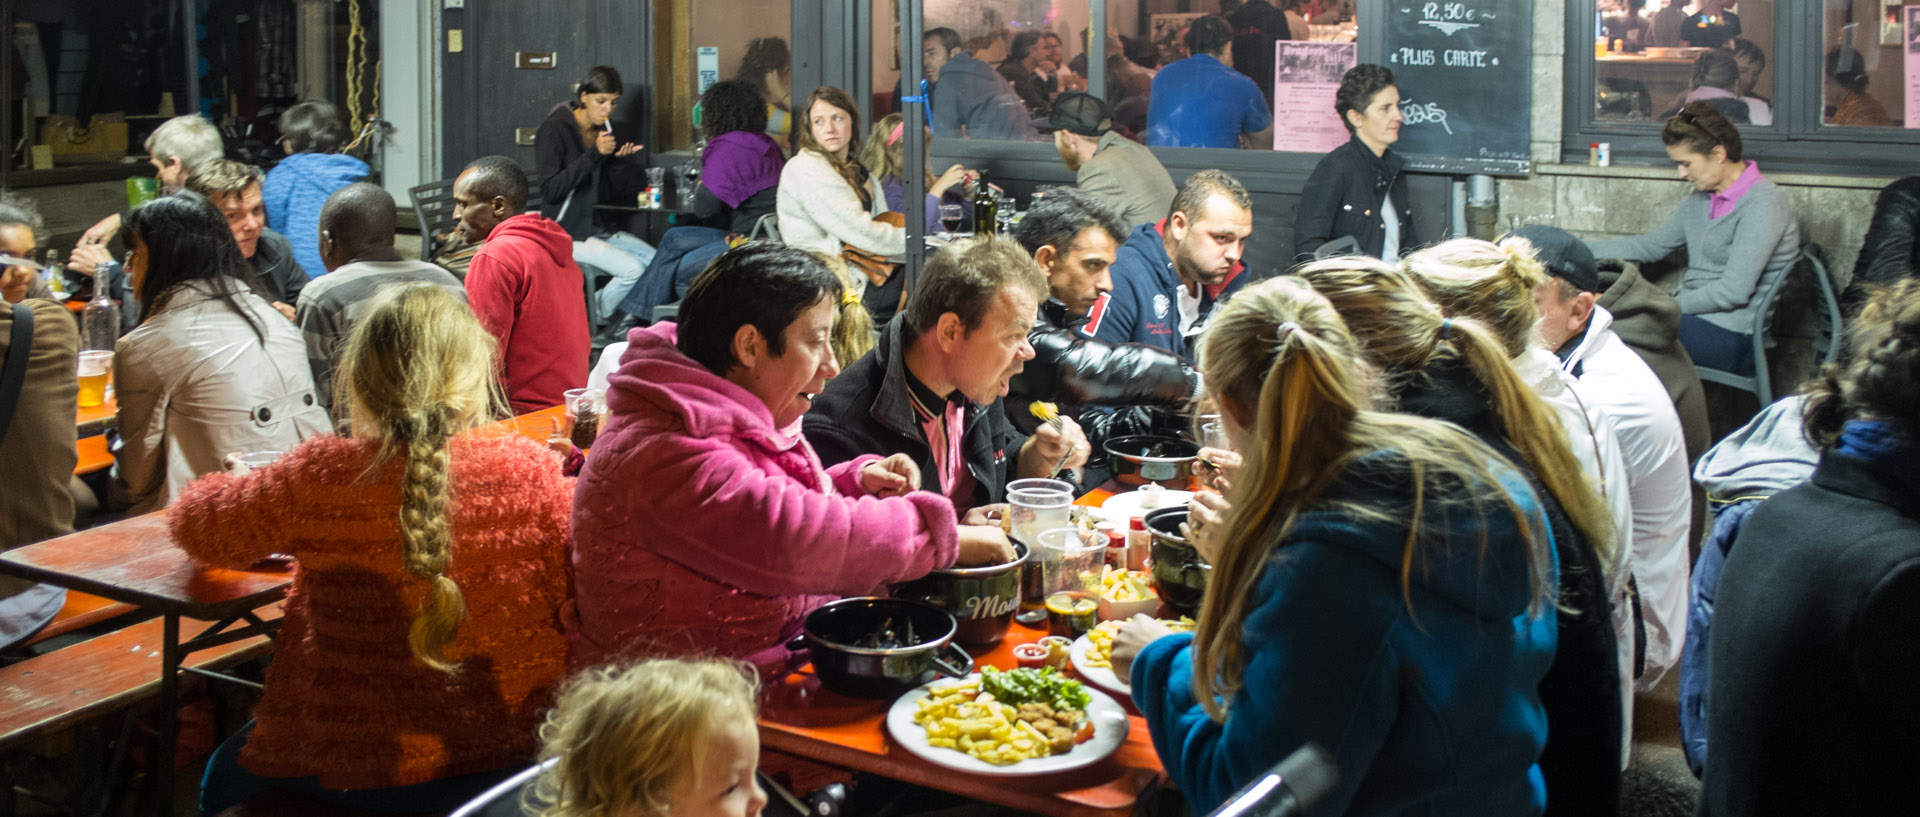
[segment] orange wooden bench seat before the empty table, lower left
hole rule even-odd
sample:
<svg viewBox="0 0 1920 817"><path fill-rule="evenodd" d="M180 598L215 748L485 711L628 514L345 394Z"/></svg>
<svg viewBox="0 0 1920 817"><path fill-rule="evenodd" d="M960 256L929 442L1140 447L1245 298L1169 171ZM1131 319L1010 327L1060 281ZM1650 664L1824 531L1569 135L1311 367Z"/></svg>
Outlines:
<svg viewBox="0 0 1920 817"><path fill-rule="evenodd" d="M257 616L276 619L280 604L261 608ZM213 621L182 619L180 637L192 639L211 627ZM165 621L156 618L0 667L0 750L159 692L163 633ZM255 635L192 652L180 669L225 669L271 648L265 635Z"/></svg>

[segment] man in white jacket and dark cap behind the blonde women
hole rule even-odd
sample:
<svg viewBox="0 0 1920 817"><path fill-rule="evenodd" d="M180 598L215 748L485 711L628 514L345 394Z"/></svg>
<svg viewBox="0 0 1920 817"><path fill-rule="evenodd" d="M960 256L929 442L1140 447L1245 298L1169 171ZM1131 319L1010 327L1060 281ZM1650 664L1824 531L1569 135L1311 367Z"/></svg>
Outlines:
<svg viewBox="0 0 1920 817"><path fill-rule="evenodd" d="M1661 378L1613 332L1613 315L1599 305L1599 265L1586 244L1553 226L1524 226L1501 240L1515 242L1553 276L1534 290L1540 339L1613 414L1619 432L1634 506L1628 543L1638 608L1630 612L1642 644L1632 675L1644 692L1680 662L1686 639L1693 502L1680 414Z"/></svg>

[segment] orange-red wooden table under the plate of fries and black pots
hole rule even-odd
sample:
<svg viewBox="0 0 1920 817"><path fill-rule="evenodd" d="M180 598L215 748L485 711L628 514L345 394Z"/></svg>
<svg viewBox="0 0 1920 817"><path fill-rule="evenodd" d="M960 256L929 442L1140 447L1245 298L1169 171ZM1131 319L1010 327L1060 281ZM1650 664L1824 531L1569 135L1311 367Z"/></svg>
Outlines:
<svg viewBox="0 0 1920 817"><path fill-rule="evenodd" d="M1077 504L1098 506L1112 489L1102 485ZM1043 637L1044 625L1016 621L1000 644L973 656L973 665L1014 669L1014 644ZM1054 775L987 777L933 765L895 744L885 727L891 706L891 700L849 698L824 689L808 664L768 690L760 742L822 763L1054 817L1129 815L1142 794L1165 784L1165 769L1139 713L1127 717L1127 742L1100 763Z"/></svg>

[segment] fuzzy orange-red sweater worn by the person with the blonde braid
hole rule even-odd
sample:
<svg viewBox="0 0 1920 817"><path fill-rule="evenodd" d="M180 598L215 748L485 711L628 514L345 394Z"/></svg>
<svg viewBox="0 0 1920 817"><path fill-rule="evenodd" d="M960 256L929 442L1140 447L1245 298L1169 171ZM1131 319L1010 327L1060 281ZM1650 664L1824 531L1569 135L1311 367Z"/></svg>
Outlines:
<svg viewBox="0 0 1920 817"><path fill-rule="evenodd" d="M407 573L396 458L376 441L311 437L244 478L209 474L167 516L202 564L300 558L267 689L240 765L386 788L534 761L536 731L566 669L572 479L540 443L467 432L447 441L453 564L467 618L447 648L459 671L413 658L407 627L428 583Z"/></svg>

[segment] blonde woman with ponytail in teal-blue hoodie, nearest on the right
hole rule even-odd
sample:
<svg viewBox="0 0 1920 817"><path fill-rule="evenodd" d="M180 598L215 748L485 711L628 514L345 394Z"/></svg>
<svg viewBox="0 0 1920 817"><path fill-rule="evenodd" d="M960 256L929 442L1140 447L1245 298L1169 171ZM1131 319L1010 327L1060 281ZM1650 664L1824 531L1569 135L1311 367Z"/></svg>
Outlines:
<svg viewBox="0 0 1920 817"><path fill-rule="evenodd" d="M1244 456L1192 635L1121 629L1154 748L1194 813L1317 742L1327 815L1536 815L1555 560L1524 476L1461 430L1375 410L1361 349L1296 278L1200 349ZM1208 527L1223 531L1208 533ZM1144 646L1142 646L1144 644Z"/></svg>

